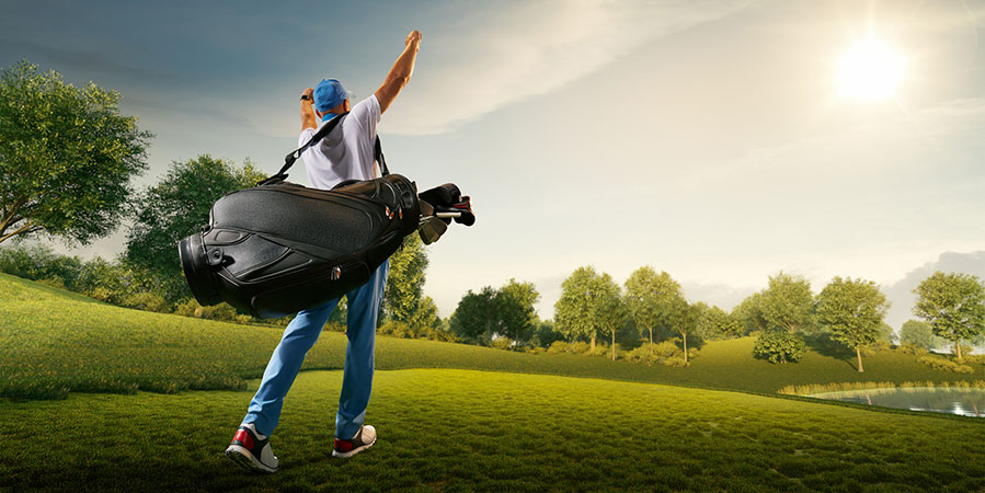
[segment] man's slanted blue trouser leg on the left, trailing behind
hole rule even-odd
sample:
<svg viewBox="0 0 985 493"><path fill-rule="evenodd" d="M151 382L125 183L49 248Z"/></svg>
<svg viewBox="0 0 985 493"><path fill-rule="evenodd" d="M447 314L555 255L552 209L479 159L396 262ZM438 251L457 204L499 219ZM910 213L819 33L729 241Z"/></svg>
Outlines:
<svg viewBox="0 0 985 493"><path fill-rule="evenodd" d="M318 341L325 321L339 305L333 299L324 305L298 312L290 321L280 337L280 344L274 349L271 362L263 372L263 381L250 402L250 409L243 423L253 423L256 431L270 435L277 427L284 395L294 383L308 349Z"/></svg>

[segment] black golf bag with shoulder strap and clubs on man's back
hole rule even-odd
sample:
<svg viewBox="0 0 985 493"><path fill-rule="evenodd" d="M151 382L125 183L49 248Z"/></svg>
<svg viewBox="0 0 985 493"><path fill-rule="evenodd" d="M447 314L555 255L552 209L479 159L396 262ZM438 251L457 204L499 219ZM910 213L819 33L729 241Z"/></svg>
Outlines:
<svg viewBox="0 0 985 493"><path fill-rule="evenodd" d="M413 182L389 174L378 140L380 179L332 191L285 182L287 168L330 125L288 154L277 174L216 202L203 231L179 242L185 279L201 305L226 301L260 318L295 313L365 284L419 227L431 243L451 219L474 222L469 197L457 186L422 194L429 204L419 199Z"/></svg>

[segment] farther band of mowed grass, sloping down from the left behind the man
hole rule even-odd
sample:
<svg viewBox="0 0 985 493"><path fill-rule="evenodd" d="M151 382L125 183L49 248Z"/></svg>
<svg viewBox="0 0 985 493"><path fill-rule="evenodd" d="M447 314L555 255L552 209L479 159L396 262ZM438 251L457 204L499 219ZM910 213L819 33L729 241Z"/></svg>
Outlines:
<svg viewBox="0 0 985 493"><path fill-rule="evenodd" d="M70 391L175 393L245 387L259 378L282 329L245 326L114 307L0 274L0 397L64 398ZM959 381L985 378L934 370L894 352L866 358L809 351L799 363L752 357L753 340L713 342L689 368L600 357L522 354L463 344L378 337L379 369L463 368L685 385L774 393L788 385L841 381ZM324 332L303 368L339 369L345 336Z"/></svg>

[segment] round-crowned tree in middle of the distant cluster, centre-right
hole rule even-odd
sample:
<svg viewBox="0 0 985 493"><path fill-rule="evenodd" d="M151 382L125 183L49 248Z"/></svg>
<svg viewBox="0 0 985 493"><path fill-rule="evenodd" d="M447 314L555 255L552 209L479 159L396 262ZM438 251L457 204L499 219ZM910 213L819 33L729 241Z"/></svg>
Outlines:
<svg viewBox="0 0 985 493"><path fill-rule="evenodd" d="M650 332L650 354L653 354L653 329L667 324L673 300L679 296L680 285L666 272L656 274L650 266L633 271L626 279L627 309L637 326Z"/></svg>

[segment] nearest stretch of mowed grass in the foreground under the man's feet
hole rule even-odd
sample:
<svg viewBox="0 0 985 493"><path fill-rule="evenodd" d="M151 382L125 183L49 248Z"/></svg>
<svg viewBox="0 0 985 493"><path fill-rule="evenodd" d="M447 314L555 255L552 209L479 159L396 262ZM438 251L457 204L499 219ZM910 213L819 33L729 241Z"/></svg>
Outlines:
<svg viewBox="0 0 985 493"><path fill-rule="evenodd" d="M272 475L222 456L250 392L0 400L0 490L985 489L985 427L973 420L453 369L378 371L367 423L379 442L344 461L330 457L341 380L298 377Z"/></svg>

